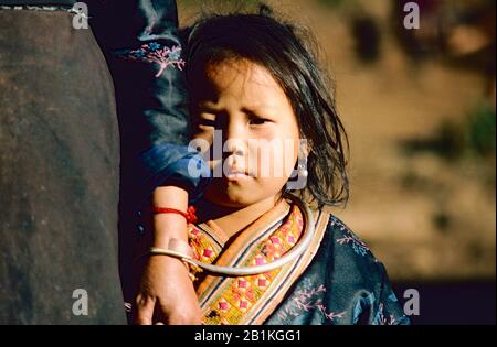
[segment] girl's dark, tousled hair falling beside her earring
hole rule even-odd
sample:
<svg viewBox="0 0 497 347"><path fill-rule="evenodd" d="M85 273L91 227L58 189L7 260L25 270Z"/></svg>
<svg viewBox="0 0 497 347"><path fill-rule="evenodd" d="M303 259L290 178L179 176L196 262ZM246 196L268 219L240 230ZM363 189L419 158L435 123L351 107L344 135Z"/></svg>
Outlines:
<svg viewBox="0 0 497 347"><path fill-rule="evenodd" d="M257 14L211 14L188 30L187 79L191 85L208 65L231 58L265 67L288 97L310 149L307 186L299 193L319 207L340 205L349 196L347 133L336 110L335 86L307 36L300 40L297 28L273 18L266 6Z"/></svg>

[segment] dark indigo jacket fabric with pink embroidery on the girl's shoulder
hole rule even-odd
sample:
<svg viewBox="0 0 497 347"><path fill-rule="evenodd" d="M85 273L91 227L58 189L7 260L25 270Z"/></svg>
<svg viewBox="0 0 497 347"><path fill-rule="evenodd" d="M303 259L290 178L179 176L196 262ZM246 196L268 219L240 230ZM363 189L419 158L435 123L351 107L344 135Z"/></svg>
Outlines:
<svg viewBox="0 0 497 347"><path fill-rule="evenodd" d="M266 325L410 324L383 264L331 216L315 259Z"/></svg>

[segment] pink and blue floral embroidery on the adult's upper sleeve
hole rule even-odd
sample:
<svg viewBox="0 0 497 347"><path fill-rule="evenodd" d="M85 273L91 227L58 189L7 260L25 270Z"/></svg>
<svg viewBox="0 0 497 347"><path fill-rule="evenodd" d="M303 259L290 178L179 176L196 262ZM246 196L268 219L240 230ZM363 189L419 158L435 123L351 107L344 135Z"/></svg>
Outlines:
<svg viewBox="0 0 497 347"><path fill-rule="evenodd" d="M142 44L137 50L119 50L116 51L115 54L131 61L144 61L157 64L159 66L159 72L156 74L156 77L160 77L168 66L176 66L178 69L182 71L186 65L186 62L181 58L181 47L172 46L170 48L158 42Z"/></svg>

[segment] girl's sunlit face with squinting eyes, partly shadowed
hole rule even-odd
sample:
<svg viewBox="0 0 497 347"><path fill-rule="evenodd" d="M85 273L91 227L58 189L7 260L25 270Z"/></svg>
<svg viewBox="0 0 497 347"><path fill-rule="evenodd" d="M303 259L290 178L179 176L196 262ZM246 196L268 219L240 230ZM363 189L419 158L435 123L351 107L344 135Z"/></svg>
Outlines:
<svg viewBox="0 0 497 347"><path fill-rule="evenodd" d="M245 207L276 196L299 147L297 119L284 90L268 71L244 59L208 65L199 77L191 90L193 138L204 140L214 176L204 197Z"/></svg>

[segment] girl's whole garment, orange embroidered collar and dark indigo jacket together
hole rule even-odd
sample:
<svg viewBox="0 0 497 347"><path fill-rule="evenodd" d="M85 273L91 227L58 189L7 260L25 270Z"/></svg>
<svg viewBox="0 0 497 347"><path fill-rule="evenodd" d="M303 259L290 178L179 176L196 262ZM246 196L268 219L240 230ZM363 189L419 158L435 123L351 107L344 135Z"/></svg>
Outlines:
<svg viewBox="0 0 497 347"><path fill-rule="evenodd" d="M204 324L409 324L383 265L345 224L315 212L306 252L250 276L197 273ZM216 265L263 264L288 252L305 232L297 205L279 203L228 240L212 221L189 225L194 258Z"/></svg>

